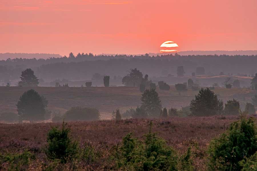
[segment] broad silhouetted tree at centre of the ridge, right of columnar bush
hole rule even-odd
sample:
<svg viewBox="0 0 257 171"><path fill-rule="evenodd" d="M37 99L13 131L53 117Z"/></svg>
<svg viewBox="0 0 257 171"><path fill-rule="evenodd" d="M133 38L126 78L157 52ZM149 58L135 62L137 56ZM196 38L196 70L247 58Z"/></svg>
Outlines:
<svg viewBox="0 0 257 171"><path fill-rule="evenodd" d="M142 82L143 74L139 70L130 69L130 72L122 78L122 84L125 86L140 86Z"/></svg>

